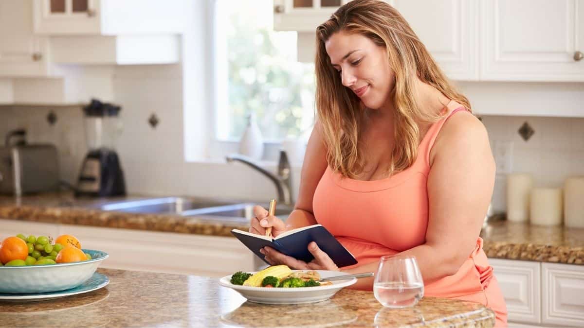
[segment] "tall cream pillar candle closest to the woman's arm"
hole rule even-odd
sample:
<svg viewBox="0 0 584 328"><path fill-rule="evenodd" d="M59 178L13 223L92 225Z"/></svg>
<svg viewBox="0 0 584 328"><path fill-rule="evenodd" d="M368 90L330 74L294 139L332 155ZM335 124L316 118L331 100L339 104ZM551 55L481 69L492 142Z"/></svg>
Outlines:
<svg viewBox="0 0 584 328"><path fill-rule="evenodd" d="M529 219L529 193L533 177L529 173L507 175L507 219L523 222Z"/></svg>

